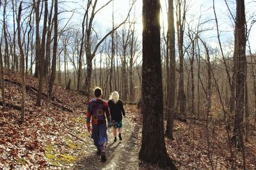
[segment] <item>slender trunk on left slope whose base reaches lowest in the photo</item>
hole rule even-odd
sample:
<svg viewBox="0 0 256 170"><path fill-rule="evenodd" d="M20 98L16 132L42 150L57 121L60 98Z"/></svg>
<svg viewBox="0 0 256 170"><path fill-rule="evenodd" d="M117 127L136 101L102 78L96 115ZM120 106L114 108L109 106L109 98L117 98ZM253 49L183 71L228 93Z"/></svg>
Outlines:
<svg viewBox="0 0 256 170"><path fill-rule="evenodd" d="M26 84L25 84L25 66L24 66L24 52L22 50L22 45L21 45L21 38L20 38L20 15L21 15L21 9L22 9L22 1L20 2L19 6L19 14L18 14L18 20L17 20L17 26L18 26L18 43L19 43L19 48L20 48L20 67L21 67L21 73L20 73L20 80L22 83L22 108L21 108L21 117L20 121L24 122L25 118L25 93L26 93Z"/></svg>

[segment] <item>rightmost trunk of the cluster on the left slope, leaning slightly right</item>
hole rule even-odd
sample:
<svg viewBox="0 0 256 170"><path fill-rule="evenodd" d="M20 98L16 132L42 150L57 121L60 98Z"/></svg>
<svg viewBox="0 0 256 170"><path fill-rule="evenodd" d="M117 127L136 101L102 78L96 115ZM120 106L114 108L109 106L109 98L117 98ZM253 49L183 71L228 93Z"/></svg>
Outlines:
<svg viewBox="0 0 256 170"><path fill-rule="evenodd" d="M58 48L58 0L54 1L54 39L53 39L53 52L52 52L52 70L51 77L49 81L49 96L52 95L55 75L56 75L56 65L57 65L57 48Z"/></svg>

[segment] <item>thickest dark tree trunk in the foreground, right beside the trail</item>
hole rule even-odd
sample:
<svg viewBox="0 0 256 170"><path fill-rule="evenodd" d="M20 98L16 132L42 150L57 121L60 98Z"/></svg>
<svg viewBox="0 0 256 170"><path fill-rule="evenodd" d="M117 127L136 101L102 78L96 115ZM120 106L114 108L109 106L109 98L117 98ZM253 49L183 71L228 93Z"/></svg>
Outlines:
<svg viewBox="0 0 256 170"><path fill-rule="evenodd" d="M164 143L159 15L160 1L143 0L143 129L139 157L161 168L176 169Z"/></svg>

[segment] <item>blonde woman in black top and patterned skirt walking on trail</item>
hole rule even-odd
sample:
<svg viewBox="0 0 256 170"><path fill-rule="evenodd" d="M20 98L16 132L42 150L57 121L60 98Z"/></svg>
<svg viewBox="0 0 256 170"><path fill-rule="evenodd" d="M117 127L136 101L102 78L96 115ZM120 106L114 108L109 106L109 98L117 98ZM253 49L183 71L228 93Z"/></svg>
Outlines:
<svg viewBox="0 0 256 170"><path fill-rule="evenodd" d="M123 102L119 99L118 92L113 92L109 97L108 106L110 110L111 120L113 122L113 134L115 136L114 142L116 142L116 129L118 129L118 137L122 140L122 115L125 117Z"/></svg>

